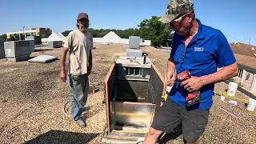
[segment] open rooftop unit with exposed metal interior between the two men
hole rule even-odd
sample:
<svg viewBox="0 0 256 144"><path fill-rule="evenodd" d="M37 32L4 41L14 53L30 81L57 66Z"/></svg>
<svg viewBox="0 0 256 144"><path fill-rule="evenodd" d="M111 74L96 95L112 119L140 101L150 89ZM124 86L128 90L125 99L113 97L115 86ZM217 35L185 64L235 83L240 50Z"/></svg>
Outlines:
<svg viewBox="0 0 256 144"><path fill-rule="evenodd" d="M136 143L160 108L165 83L147 58L120 57L106 75L106 130L102 143Z"/></svg>

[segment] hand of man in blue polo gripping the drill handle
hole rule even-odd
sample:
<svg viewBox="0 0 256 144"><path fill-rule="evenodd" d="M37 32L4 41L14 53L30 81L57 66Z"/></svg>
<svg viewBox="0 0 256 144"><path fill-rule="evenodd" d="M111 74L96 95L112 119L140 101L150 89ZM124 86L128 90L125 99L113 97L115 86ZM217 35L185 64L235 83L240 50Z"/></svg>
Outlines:
<svg viewBox="0 0 256 144"><path fill-rule="evenodd" d="M184 86L184 89L189 92L194 92L200 90L202 86L204 86L201 77L191 77L184 82L181 82L181 86Z"/></svg>

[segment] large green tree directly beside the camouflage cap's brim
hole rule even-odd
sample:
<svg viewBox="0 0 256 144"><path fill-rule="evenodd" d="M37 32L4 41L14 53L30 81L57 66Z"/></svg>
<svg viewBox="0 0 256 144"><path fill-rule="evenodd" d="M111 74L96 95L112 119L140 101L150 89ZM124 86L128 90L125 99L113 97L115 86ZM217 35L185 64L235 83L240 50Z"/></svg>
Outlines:
<svg viewBox="0 0 256 144"><path fill-rule="evenodd" d="M172 34L168 24L158 21L159 17L153 16L151 19L144 19L139 27L139 35L141 38L150 39L152 46L167 46L170 42ZM170 45L170 44L168 44Z"/></svg>

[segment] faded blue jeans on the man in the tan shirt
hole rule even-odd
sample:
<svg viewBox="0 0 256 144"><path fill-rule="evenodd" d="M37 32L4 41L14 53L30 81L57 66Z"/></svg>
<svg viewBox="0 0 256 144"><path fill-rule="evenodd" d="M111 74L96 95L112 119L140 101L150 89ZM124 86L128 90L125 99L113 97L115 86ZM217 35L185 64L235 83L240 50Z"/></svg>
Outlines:
<svg viewBox="0 0 256 144"><path fill-rule="evenodd" d="M89 92L88 74L70 74L71 115L75 121L81 118Z"/></svg>

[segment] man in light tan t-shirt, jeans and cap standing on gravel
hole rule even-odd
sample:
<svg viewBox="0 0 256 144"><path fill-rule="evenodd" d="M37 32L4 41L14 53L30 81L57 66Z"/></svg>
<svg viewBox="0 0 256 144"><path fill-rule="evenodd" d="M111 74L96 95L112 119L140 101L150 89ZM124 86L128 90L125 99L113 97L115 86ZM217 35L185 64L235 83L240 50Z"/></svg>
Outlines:
<svg viewBox="0 0 256 144"><path fill-rule="evenodd" d="M88 14L78 14L78 30L74 30L66 37L66 42L61 56L60 78L66 82L65 62L69 52L69 80L70 80L70 103L71 115L80 127L86 127L81 114L85 110L89 91L88 75L92 69L93 36L88 32Z"/></svg>

